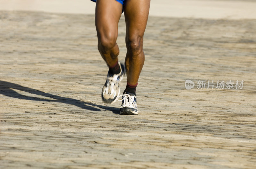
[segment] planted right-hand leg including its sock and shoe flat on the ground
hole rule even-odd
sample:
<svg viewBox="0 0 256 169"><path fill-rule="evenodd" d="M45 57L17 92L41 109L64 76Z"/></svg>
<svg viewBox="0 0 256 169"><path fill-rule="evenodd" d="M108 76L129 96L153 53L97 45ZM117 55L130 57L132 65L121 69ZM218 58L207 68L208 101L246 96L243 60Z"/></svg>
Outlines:
<svg viewBox="0 0 256 169"><path fill-rule="evenodd" d="M120 114L123 115L138 114L135 91L145 60L142 46L149 6L150 0L126 0L124 3L127 85L120 108Z"/></svg>

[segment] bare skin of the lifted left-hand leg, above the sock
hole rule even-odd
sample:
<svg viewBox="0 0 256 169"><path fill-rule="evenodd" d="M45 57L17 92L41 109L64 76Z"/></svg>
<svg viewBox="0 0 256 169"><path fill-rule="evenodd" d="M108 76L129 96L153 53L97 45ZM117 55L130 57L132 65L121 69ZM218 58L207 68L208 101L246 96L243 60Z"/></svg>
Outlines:
<svg viewBox="0 0 256 169"><path fill-rule="evenodd" d="M96 2L95 25L98 49L109 67L115 65L118 60L119 48L116 39L122 8L122 4L115 0L97 0Z"/></svg>

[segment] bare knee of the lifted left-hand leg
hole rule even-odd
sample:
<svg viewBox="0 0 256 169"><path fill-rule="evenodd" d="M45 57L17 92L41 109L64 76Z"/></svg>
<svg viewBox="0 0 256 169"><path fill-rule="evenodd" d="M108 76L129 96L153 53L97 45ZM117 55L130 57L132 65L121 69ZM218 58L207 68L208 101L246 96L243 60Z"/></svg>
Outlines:
<svg viewBox="0 0 256 169"><path fill-rule="evenodd" d="M116 45L117 36L113 33L101 35L98 38L99 50L108 51Z"/></svg>

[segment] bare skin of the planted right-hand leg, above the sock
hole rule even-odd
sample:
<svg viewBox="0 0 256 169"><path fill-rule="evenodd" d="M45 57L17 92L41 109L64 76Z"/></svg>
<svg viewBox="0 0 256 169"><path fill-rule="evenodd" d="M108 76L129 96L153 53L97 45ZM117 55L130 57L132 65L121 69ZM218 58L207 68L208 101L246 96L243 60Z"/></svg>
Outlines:
<svg viewBox="0 0 256 169"><path fill-rule="evenodd" d="M150 0L126 0L124 16L126 23L126 58L127 82L136 85L144 64L143 35L148 21Z"/></svg>

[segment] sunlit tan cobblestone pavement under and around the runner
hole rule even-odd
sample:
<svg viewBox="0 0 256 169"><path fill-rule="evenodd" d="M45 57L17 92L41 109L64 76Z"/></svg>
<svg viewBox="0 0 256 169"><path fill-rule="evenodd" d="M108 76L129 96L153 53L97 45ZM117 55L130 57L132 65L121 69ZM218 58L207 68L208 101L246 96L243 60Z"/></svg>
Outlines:
<svg viewBox="0 0 256 169"><path fill-rule="evenodd" d="M122 17L121 61L124 35ZM255 168L255 39L256 20L150 17L123 116L101 101L94 16L0 11L0 168Z"/></svg>

